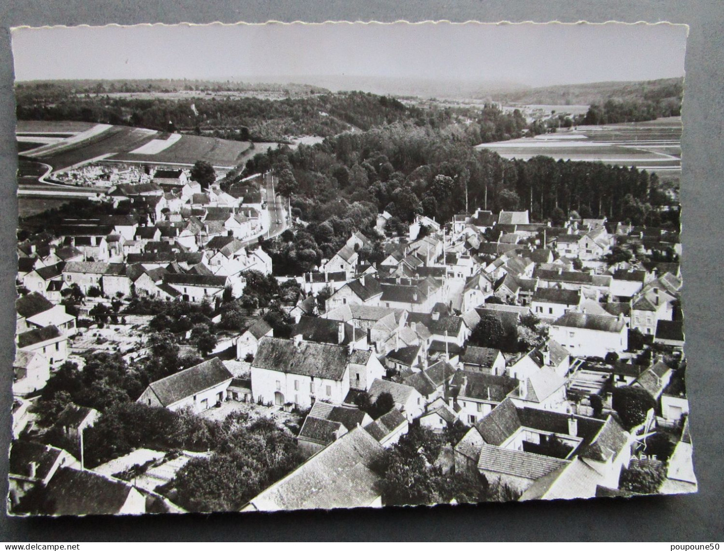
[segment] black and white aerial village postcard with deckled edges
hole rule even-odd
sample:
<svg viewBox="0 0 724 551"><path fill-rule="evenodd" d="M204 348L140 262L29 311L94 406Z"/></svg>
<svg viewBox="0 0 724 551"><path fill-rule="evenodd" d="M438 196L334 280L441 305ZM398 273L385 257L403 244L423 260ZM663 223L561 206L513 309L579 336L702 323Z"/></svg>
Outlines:
<svg viewBox="0 0 724 551"><path fill-rule="evenodd" d="M13 28L9 514L696 492L688 33Z"/></svg>

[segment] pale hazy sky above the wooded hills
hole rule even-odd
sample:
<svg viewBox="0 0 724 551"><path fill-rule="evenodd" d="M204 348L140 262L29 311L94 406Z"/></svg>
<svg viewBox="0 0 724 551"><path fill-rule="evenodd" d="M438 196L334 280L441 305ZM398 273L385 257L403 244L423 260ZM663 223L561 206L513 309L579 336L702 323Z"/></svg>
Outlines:
<svg viewBox="0 0 724 551"><path fill-rule="evenodd" d="M20 27L12 49L16 80L353 75L546 86L681 77L686 33L622 23Z"/></svg>

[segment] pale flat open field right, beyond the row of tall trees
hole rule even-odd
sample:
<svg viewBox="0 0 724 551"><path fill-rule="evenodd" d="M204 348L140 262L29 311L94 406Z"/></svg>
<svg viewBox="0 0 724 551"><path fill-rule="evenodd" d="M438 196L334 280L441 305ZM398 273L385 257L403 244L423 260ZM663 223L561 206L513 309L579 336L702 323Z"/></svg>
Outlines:
<svg viewBox="0 0 724 551"><path fill-rule="evenodd" d="M601 161L649 171L681 169L681 117L578 127L506 142L481 144L502 158L545 155L564 161Z"/></svg>

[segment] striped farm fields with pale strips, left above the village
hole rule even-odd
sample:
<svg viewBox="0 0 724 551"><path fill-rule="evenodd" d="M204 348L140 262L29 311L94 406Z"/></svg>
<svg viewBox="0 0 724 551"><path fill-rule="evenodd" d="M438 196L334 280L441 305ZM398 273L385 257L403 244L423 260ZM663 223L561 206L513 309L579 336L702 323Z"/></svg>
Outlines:
<svg viewBox="0 0 724 551"><path fill-rule="evenodd" d="M25 121L23 122L25 123ZM26 150L21 153L21 156L49 164L54 171L101 157L111 161L186 166L203 160L218 167L233 167L241 162L250 145L249 142L235 142L214 137L188 134L169 135L165 132L143 128L80 124L84 126L75 126L75 123L70 123L64 127L62 124L45 122L23 124L24 129L35 127L37 132L46 133L54 132L54 128L65 128L69 131L70 129L76 131L84 129L59 142ZM131 153L139 150L141 153Z"/></svg>

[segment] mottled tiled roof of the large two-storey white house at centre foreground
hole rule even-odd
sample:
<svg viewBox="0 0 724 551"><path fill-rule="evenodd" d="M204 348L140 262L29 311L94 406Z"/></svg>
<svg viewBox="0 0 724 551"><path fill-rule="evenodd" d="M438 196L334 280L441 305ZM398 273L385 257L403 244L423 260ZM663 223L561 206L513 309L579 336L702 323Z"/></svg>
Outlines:
<svg viewBox="0 0 724 551"><path fill-rule="evenodd" d="M264 337L259 341L252 367L342 380L347 372L347 362L346 346Z"/></svg>

